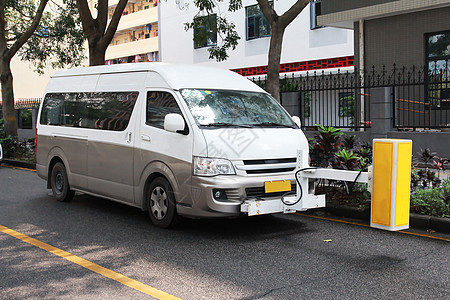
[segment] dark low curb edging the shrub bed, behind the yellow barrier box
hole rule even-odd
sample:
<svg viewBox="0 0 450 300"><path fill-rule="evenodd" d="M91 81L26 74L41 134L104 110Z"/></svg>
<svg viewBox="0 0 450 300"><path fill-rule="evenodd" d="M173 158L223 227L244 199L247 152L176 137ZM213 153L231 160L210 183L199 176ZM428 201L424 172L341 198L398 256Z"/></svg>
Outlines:
<svg viewBox="0 0 450 300"><path fill-rule="evenodd" d="M325 212L339 217L370 221L370 208L357 208L329 205L323 208ZM409 226L423 230L435 230L450 233L450 218L439 218L426 215L409 214Z"/></svg>

